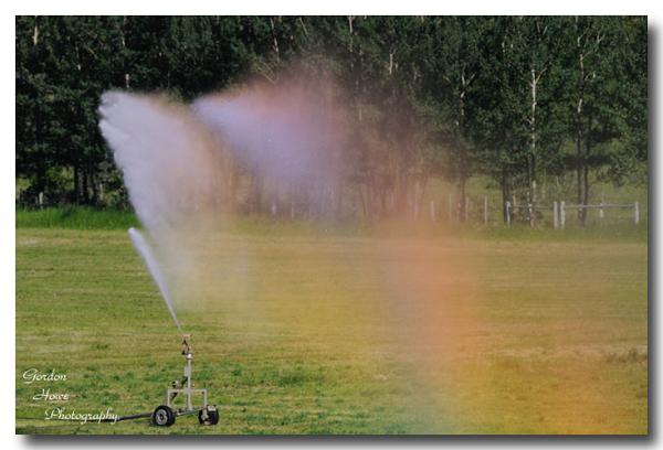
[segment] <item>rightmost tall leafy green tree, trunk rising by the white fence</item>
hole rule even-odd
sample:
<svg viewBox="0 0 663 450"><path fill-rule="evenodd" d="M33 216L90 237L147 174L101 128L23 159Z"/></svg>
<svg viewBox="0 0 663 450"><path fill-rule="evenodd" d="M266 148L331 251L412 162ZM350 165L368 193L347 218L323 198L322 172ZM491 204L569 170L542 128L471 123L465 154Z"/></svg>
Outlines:
<svg viewBox="0 0 663 450"><path fill-rule="evenodd" d="M631 46L629 36L625 18L576 17L568 28L570 128L575 141L576 200L581 205L587 205L590 199L590 169L607 162L599 152L600 146L620 137L628 139L633 128L620 124L633 115L643 117L642 109L630 106L646 97L643 95L646 81L642 82L642 74L646 73L646 43L640 41L638 47ZM629 69L635 61L640 71ZM625 154L619 152L621 157ZM578 218L586 223L586 208L579 210Z"/></svg>

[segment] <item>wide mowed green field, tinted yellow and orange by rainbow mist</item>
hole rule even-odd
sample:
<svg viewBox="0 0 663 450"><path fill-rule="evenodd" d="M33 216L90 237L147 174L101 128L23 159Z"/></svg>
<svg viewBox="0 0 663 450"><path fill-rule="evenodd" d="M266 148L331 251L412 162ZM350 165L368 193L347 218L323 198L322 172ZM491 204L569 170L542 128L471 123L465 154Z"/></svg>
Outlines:
<svg viewBox="0 0 663 450"><path fill-rule="evenodd" d="M164 403L178 331L126 232L18 228L17 431L648 431L645 242L234 233L203 247L177 309L220 424L81 425L44 411ZM29 368L67 379L28 385ZM43 388L70 399L33 400Z"/></svg>

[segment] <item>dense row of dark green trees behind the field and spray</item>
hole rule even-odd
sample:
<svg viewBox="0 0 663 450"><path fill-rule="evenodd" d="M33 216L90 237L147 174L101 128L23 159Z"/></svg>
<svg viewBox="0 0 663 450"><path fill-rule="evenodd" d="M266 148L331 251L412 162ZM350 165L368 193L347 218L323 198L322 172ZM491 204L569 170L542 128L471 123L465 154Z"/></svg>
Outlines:
<svg viewBox="0 0 663 450"><path fill-rule="evenodd" d="M648 181L642 17L17 17L15 52L22 205L127 205L103 92L189 101L250 76L278 86L293 64L334 74L376 130L346 149L340 188L365 217L417 215L432 179L457 186L461 218L472 176L534 211L555 189L587 204L597 180Z"/></svg>

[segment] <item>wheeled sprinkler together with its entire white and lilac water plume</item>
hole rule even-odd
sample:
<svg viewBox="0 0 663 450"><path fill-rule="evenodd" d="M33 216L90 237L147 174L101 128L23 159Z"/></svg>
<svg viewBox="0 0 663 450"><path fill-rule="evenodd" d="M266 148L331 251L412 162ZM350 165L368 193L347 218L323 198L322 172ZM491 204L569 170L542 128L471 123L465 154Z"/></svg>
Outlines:
<svg viewBox="0 0 663 450"><path fill-rule="evenodd" d="M204 229L201 224L210 219L215 224L221 217L228 156L291 185L315 180L325 185L320 193L336 185L338 164L333 156L345 127L330 113L334 93L320 93L319 87L319 83L315 88L299 83L282 84L278 89L260 85L201 97L191 106L155 95L107 92L102 96L99 130L146 229L145 235L135 228L128 234L182 335L186 361L183 376L167 389L165 404L151 414L118 420L151 417L155 425L168 427L176 416L198 413L202 425L219 421L207 390L196 389L191 382L191 335L183 332L173 308L166 277L171 274L161 269L173 269L177 279L185 267L204 262L197 260L187 242ZM178 395L186 405L173 409ZM202 396L202 407L193 406L193 395Z"/></svg>

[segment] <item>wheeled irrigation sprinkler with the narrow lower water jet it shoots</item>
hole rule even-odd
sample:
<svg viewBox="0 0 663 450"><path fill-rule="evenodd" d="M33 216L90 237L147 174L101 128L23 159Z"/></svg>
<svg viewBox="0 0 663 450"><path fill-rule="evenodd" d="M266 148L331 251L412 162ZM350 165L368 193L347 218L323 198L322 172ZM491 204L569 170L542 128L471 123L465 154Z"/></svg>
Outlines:
<svg viewBox="0 0 663 450"><path fill-rule="evenodd" d="M175 310L172 304L170 303L170 298L168 296L168 290L166 285L162 282L164 278L157 265L156 258L154 258L149 244L145 239L145 237L135 228L129 228L129 237L136 247L136 250L143 257L145 265L148 268L148 271L152 276L161 296L164 297L164 301L166 302L166 307L168 311L172 315L175 323L177 324L178 330L181 331L181 326L179 321L177 320L177 315L175 314ZM139 418L151 418L151 422L158 427L170 427L175 424L175 419L178 416L189 416L189 415L198 415L198 422L200 425L217 425L219 424L219 410L215 405L210 405L208 403L208 392L207 389L198 389L193 385L192 379L192 363L193 363L193 350L191 347L191 334L182 333L182 344L181 344L181 354L185 357L185 372L180 379L176 379L170 384L170 387L166 389L166 403L157 406L152 413L140 413L134 414L129 416L119 416L113 421L122 421L122 420L131 420ZM183 407L176 408L175 399L181 395L185 398ZM194 406L193 404L193 395L202 396L202 405ZM110 421L110 420L105 420Z"/></svg>

